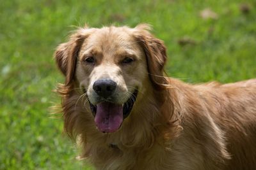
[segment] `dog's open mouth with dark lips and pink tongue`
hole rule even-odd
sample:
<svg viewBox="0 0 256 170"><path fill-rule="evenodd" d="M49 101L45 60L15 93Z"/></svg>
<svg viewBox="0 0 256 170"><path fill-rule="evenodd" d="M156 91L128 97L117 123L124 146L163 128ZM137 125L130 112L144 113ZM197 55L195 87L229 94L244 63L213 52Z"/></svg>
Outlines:
<svg viewBox="0 0 256 170"><path fill-rule="evenodd" d="M131 113L137 95L138 90L135 90L124 104L103 101L93 105L89 100L94 121L99 131L104 133L117 131L122 125L124 118L127 118Z"/></svg>

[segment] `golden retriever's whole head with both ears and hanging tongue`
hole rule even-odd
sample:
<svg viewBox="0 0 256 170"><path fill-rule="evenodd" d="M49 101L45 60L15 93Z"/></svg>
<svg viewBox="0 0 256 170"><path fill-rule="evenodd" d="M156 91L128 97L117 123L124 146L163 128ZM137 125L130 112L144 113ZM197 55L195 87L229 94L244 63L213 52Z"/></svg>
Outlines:
<svg viewBox="0 0 256 170"><path fill-rule="evenodd" d="M56 50L65 85L75 84L86 94L102 132L117 131L150 88L163 89L166 49L149 29L145 24L133 29L84 27Z"/></svg>

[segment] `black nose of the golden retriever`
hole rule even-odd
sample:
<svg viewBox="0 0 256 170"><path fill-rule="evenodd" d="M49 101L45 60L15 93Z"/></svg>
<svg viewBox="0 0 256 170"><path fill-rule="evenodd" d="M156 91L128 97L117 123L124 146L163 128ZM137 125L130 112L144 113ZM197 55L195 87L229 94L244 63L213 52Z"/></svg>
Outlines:
<svg viewBox="0 0 256 170"><path fill-rule="evenodd" d="M101 97L109 97L116 89L116 82L111 79L100 79L93 83L93 90Z"/></svg>

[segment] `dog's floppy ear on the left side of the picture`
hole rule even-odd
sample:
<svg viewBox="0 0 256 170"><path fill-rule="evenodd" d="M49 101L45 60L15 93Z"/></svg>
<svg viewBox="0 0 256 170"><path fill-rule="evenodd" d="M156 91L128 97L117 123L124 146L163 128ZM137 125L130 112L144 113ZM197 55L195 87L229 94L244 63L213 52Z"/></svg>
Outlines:
<svg viewBox="0 0 256 170"><path fill-rule="evenodd" d="M77 29L66 43L61 43L56 48L54 57L57 66L66 77L66 85L70 85L74 80L80 48L83 45L84 39L86 39L90 33L92 33L92 29L88 29L87 27Z"/></svg>

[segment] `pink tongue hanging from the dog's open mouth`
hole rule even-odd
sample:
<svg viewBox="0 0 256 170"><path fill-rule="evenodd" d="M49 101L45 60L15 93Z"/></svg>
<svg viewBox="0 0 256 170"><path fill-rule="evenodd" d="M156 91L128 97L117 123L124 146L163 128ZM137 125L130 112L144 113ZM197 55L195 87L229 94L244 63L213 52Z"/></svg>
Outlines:
<svg viewBox="0 0 256 170"><path fill-rule="evenodd" d="M94 121L101 132L115 132L123 122L123 106L103 102L97 104Z"/></svg>

